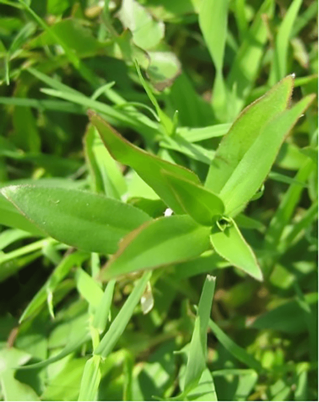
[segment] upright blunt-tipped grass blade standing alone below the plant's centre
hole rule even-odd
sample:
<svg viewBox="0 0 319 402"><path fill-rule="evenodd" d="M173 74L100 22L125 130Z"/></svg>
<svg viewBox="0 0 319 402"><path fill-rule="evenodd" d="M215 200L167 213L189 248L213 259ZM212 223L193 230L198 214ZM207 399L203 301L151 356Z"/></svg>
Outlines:
<svg viewBox="0 0 319 402"><path fill-rule="evenodd" d="M211 316L216 278L207 275L198 304L194 330L189 346L183 394L187 395L199 382L206 368L207 329Z"/></svg>

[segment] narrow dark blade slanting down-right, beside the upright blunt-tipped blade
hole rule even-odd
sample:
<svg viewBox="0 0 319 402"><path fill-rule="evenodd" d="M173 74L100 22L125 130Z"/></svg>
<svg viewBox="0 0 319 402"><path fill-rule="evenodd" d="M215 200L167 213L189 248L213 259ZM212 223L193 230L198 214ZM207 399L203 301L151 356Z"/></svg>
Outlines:
<svg viewBox="0 0 319 402"><path fill-rule="evenodd" d="M258 360L256 360L251 354L247 353L245 349L241 348L237 345L228 335L226 335L219 326L213 322L213 320L209 321L209 327L213 331L213 334L218 339L218 341L223 345L225 349L227 349L236 359L238 359L241 363L251 367L256 370L257 373L261 373L263 371L262 365Z"/></svg>

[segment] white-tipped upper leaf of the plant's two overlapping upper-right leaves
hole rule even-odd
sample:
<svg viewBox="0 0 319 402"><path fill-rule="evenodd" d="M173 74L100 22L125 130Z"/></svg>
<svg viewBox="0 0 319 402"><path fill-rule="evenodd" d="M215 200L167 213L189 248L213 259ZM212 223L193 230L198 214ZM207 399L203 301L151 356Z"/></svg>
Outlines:
<svg viewBox="0 0 319 402"><path fill-rule="evenodd" d="M240 113L219 144L205 187L220 192L266 123L287 108L292 88L293 76L288 76Z"/></svg>

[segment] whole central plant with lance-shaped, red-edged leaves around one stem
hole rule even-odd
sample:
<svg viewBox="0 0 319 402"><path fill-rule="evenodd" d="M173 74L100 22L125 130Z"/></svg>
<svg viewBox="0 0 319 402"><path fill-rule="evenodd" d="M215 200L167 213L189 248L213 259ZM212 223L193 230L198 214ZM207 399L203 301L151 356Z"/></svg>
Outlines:
<svg viewBox="0 0 319 402"><path fill-rule="evenodd" d="M292 87L288 76L242 111L220 142L204 186L194 172L134 146L88 112L109 154L131 166L173 216L152 219L120 199L71 188L9 186L1 192L25 215L12 211L21 228L29 220L35 231L58 241L113 254L101 271L104 280L189 260L212 245L232 265L262 280L234 218L261 188L286 135L314 100L309 95L289 109Z"/></svg>

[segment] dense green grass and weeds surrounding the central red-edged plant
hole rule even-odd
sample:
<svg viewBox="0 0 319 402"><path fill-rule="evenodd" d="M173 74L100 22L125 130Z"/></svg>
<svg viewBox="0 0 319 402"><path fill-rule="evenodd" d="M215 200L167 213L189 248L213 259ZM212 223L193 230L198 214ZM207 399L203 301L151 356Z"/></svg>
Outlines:
<svg viewBox="0 0 319 402"><path fill-rule="evenodd" d="M204 181L245 106L292 73L292 104L317 93L317 1L0 0L0 8L0 187L90 189L160 216L166 206L157 194L87 128L88 108ZM109 281L103 293L95 278L108 255L44 237L0 194L0 397L178 396L193 305L213 273L208 377L184 398L318 400L317 139L315 102L238 216L264 282L213 251L157 269L153 309L126 311L125 330L119 316L124 332L101 361L92 358L99 333L88 323L104 297L102 337L128 295L136 298L135 278ZM34 366L18 370L25 364Z"/></svg>

